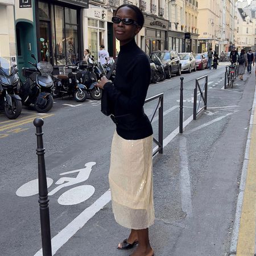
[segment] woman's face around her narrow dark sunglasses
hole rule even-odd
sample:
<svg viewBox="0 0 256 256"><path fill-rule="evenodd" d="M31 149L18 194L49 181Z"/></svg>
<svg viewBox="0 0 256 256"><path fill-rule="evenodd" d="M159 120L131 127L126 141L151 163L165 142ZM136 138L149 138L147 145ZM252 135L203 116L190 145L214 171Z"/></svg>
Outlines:
<svg viewBox="0 0 256 256"><path fill-rule="evenodd" d="M137 22L137 17L134 10L130 9L127 6L120 8L115 14L115 16L117 16L120 19L130 18ZM125 25L122 22L118 24L113 23L113 26L115 38L117 38L117 40L120 41L121 46L123 44L130 42L130 40L133 39L141 29L139 26L135 24Z"/></svg>

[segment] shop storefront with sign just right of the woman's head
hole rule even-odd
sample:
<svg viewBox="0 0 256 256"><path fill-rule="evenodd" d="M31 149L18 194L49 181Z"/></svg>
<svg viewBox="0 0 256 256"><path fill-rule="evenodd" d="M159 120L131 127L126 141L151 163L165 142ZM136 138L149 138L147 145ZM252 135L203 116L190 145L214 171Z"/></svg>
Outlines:
<svg viewBox="0 0 256 256"><path fill-rule="evenodd" d="M168 21L147 15L144 18L146 54L167 49Z"/></svg>

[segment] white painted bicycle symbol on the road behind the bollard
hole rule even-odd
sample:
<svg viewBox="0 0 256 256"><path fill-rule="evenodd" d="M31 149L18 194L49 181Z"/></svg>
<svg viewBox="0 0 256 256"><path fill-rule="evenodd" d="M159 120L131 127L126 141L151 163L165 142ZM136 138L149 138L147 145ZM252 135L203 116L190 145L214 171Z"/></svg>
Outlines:
<svg viewBox="0 0 256 256"><path fill-rule="evenodd" d="M78 172L76 177L61 177L59 180L56 181L57 187L53 188L49 193L48 196L53 196L57 193L60 189L65 187L70 187L75 184L82 183L88 180L90 176L90 172L92 172L92 167L95 165L95 162L88 162L85 164L85 168L63 172L60 174L68 175L68 174L75 174ZM51 187L53 184L53 179L47 177L47 187ZM89 199L94 194L95 188L92 185L79 185L77 187L68 189L68 191L64 192L60 195L59 199L57 200L61 205L75 205L80 204L87 199ZM38 194L38 179L28 181L24 185L18 188L16 191L16 195L20 197L28 197L34 196Z"/></svg>

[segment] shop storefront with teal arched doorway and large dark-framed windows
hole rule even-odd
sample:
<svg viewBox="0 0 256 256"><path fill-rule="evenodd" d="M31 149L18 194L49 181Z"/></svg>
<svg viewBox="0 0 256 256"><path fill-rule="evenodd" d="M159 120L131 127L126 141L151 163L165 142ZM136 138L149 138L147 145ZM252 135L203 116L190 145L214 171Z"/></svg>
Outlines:
<svg viewBox="0 0 256 256"><path fill-rule="evenodd" d="M30 5L15 7L19 66L28 65L31 53L54 66L80 60L84 48L84 8L88 8L88 0L35 0Z"/></svg>

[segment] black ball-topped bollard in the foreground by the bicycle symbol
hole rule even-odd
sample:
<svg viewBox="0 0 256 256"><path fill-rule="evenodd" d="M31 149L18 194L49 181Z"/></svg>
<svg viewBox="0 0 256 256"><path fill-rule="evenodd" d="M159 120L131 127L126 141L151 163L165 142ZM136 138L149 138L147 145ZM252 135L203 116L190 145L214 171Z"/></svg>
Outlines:
<svg viewBox="0 0 256 256"><path fill-rule="evenodd" d="M44 162L44 146L43 146L43 132L42 126L44 121L42 118L35 118L34 125L36 127L36 139L38 148L36 154L38 155L38 185L39 185L39 200L40 205L40 222L41 222L41 236L43 256L52 256L51 245L51 227L49 222L49 199L46 180L46 164Z"/></svg>

